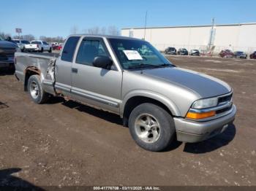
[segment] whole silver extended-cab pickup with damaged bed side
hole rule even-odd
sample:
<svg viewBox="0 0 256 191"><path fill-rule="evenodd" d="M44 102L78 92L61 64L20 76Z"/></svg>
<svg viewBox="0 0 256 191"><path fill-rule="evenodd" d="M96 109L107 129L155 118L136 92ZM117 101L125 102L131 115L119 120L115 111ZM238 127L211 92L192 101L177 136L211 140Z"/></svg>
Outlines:
<svg viewBox="0 0 256 191"><path fill-rule="evenodd" d="M209 139L236 115L229 85L174 66L140 39L72 35L58 58L16 52L15 70L35 103L54 95L116 113L151 151Z"/></svg>

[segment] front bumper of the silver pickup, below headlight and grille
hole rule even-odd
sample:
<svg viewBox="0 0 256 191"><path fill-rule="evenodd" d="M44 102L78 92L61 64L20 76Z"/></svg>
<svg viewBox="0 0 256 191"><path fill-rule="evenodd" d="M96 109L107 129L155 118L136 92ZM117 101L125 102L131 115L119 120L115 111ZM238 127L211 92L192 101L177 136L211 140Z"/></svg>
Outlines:
<svg viewBox="0 0 256 191"><path fill-rule="evenodd" d="M176 135L178 141L199 142L222 133L230 123L235 120L236 106L233 105L229 114L206 122L186 120L182 117L174 117Z"/></svg>

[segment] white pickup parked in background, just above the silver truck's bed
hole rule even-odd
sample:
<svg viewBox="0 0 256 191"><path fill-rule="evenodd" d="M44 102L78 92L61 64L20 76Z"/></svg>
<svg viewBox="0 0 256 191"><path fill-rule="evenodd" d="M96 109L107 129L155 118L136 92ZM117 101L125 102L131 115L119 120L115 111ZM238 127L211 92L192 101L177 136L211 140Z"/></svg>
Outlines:
<svg viewBox="0 0 256 191"><path fill-rule="evenodd" d="M37 52L44 52L44 51L48 51L48 52L52 52L52 47L50 44L48 44L45 41L41 41L41 40L33 40L31 41L30 44L26 44L25 45L25 51L37 51Z"/></svg>

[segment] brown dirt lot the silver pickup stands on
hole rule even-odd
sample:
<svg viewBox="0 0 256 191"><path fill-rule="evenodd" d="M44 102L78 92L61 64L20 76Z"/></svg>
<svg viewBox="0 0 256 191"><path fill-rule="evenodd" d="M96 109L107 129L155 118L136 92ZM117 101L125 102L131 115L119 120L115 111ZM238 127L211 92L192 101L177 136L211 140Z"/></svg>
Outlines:
<svg viewBox="0 0 256 191"><path fill-rule="evenodd" d="M238 113L222 135L148 152L115 114L61 98L34 104L1 73L0 184L256 185L256 61L169 58L233 87Z"/></svg>

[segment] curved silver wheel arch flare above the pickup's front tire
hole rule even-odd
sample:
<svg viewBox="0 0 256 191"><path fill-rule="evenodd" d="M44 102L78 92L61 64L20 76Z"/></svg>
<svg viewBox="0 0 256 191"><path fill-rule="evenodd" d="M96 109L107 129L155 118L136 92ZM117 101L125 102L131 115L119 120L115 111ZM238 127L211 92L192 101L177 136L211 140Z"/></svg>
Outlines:
<svg viewBox="0 0 256 191"><path fill-rule="evenodd" d="M129 98L135 97L135 96L143 96L147 98L152 98L154 100L157 100L167 106L168 109L170 109L170 112L173 114L173 116L181 116L181 112L179 111L178 107L170 98L165 97L165 95L155 93L149 90L132 90L126 95L124 95L124 98L122 98L122 102L120 105L120 115L123 117L124 114L124 107L127 104L127 101Z"/></svg>

